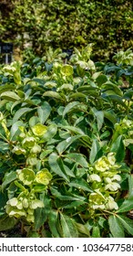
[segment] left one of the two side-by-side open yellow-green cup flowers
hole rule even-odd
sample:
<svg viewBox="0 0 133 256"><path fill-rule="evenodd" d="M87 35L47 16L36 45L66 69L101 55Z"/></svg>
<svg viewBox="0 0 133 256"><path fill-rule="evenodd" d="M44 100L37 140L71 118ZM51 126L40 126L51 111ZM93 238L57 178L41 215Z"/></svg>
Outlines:
<svg viewBox="0 0 133 256"><path fill-rule="evenodd" d="M24 168L16 171L18 178L25 184L31 185L35 180L35 173L32 169Z"/></svg>

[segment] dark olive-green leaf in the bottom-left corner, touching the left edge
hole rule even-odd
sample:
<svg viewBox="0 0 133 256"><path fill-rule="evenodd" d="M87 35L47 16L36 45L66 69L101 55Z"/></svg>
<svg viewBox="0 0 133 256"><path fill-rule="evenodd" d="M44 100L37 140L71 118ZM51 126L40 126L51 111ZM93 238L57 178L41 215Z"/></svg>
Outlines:
<svg viewBox="0 0 133 256"><path fill-rule="evenodd" d="M15 227L16 221L17 220L15 218L9 218L7 215L0 218L0 231L13 229Z"/></svg>

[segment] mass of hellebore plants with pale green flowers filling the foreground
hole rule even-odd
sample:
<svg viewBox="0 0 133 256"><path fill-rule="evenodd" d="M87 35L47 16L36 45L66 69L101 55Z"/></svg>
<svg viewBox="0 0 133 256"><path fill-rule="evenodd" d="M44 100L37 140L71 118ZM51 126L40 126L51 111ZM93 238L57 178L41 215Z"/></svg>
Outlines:
<svg viewBox="0 0 133 256"><path fill-rule="evenodd" d="M1 69L0 231L133 236L133 53L91 50Z"/></svg>

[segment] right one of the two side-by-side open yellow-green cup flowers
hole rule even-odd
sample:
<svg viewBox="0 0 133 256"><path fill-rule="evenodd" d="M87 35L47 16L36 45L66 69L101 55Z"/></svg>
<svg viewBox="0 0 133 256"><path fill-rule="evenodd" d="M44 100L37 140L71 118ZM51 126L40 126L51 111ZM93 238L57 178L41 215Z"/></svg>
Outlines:
<svg viewBox="0 0 133 256"><path fill-rule="evenodd" d="M52 175L49 173L47 169L42 169L41 171L37 172L36 174L36 182L48 185L49 181L52 179Z"/></svg>

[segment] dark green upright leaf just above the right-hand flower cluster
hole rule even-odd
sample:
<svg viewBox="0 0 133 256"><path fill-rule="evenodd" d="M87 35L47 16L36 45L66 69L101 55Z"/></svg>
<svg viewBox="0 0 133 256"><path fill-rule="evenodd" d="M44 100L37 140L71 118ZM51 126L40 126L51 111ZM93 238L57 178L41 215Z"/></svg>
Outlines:
<svg viewBox="0 0 133 256"><path fill-rule="evenodd" d="M117 162L122 162L125 157L125 146L123 144L122 135L111 145L110 152L116 153Z"/></svg>

